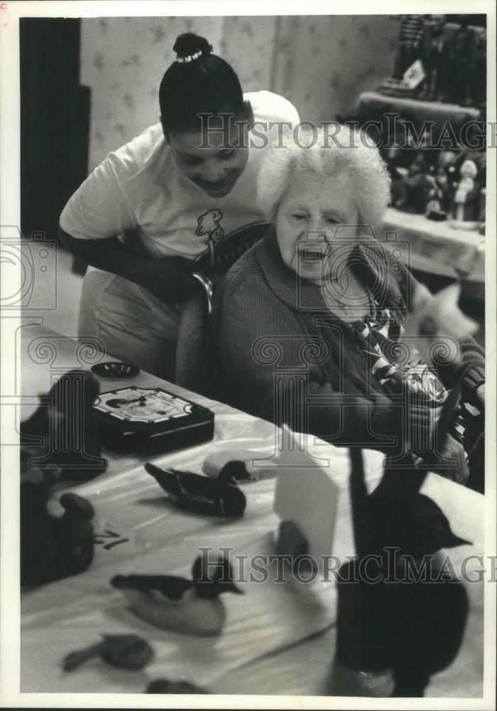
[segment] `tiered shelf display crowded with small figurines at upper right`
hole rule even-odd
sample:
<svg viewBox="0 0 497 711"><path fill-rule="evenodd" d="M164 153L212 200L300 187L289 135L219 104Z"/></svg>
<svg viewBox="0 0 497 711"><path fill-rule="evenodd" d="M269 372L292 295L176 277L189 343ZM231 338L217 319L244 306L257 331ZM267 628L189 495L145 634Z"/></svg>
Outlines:
<svg viewBox="0 0 497 711"><path fill-rule="evenodd" d="M422 270L483 282L485 16L391 17L399 21L391 76L337 120L363 129L386 161L392 199L384 230L410 240ZM428 242L436 242L433 257ZM438 264L445 252L449 261Z"/></svg>

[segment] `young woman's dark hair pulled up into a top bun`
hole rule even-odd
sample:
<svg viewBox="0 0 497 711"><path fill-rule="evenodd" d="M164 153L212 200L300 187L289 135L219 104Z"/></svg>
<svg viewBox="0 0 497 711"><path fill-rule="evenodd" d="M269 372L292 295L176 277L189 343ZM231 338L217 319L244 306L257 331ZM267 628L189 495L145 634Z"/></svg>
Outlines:
<svg viewBox="0 0 497 711"><path fill-rule="evenodd" d="M244 97L233 68L211 54L212 45L191 32L178 36L177 60L165 72L159 89L160 116L166 133L198 129L199 113L239 114ZM196 53L201 55L184 62Z"/></svg>

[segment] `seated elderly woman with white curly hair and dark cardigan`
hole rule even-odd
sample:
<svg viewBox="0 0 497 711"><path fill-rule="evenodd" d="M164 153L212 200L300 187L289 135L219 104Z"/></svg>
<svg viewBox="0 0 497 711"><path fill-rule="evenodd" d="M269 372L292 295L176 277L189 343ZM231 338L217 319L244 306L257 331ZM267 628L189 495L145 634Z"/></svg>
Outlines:
<svg viewBox="0 0 497 711"><path fill-rule="evenodd" d="M347 127L332 141L322 131L301 136L268 154L258 191L273 227L214 302L226 399L334 444L420 453L446 388L459 381L469 410L458 408L445 453L464 481L464 436L471 430L474 441L481 427L467 420L470 410L480 419L484 351L466 338L461 358L437 374L415 348L395 360L425 287L374 237L390 196L376 147Z"/></svg>

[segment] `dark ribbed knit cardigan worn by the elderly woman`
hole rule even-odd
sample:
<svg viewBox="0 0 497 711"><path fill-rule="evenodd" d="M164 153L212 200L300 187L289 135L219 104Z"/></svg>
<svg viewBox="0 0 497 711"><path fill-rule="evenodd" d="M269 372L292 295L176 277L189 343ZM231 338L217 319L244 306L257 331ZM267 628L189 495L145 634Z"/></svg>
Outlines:
<svg viewBox="0 0 497 711"><path fill-rule="evenodd" d="M404 319L416 284L408 269L372 239L359 242L351 264L378 306ZM391 452L402 442L405 404L371 377L353 329L329 311L320 287L285 265L273 228L219 284L212 331L234 407L334 444ZM484 351L465 338L461 354L437 375L448 388L461 378L471 402L485 380Z"/></svg>

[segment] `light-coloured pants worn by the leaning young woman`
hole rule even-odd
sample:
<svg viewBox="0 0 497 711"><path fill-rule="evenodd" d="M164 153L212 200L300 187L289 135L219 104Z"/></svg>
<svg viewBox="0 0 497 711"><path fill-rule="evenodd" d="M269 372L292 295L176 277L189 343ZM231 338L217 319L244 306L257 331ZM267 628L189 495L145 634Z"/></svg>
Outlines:
<svg viewBox="0 0 497 711"><path fill-rule="evenodd" d="M173 381L181 313L181 304L165 304L138 284L88 267L78 337L97 337L107 355Z"/></svg>

